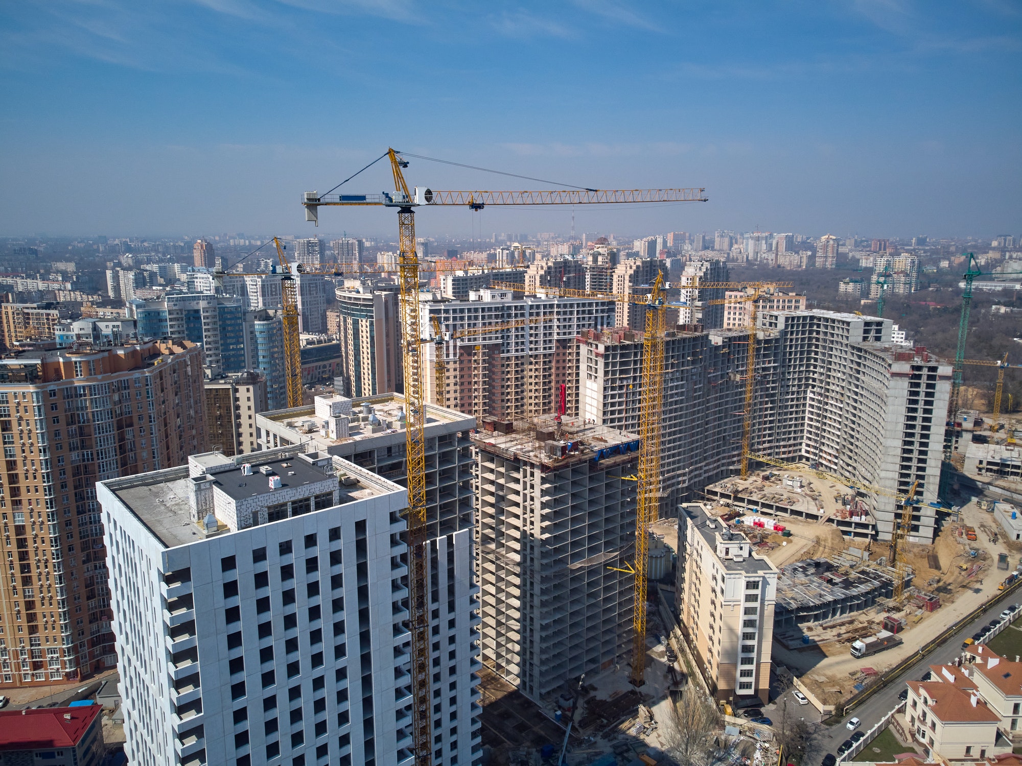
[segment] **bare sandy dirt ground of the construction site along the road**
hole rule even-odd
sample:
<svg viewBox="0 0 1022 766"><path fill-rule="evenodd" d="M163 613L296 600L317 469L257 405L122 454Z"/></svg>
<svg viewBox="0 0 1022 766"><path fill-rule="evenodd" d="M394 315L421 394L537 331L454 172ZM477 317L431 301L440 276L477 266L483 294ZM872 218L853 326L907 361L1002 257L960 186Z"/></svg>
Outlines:
<svg viewBox="0 0 1022 766"><path fill-rule="evenodd" d="M802 682L825 704L837 704L852 692L852 684L856 680L853 677L855 671L863 667L872 667L883 674L917 652L921 645L935 638L947 625L994 595L997 592L997 585L1008 574L996 569L996 555L1009 553L1014 568L1018 563L1018 554L1006 545L1003 534L998 535L997 542L993 543L990 541L990 535L981 531L983 526L991 532L1000 528L991 514L981 511L975 502L964 507L962 513L962 524L946 523L934 545L911 544L908 550L909 563L915 572L913 584L939 595L940 609L932 613L921 612L902 600L901 605L888 605L887 610L872 609L861 613L860 619L864 623L872 622L877 630L880 629L880 620L885 613L908 620L908 627L900 633L904 641L900 647L869 658L856 659L850 656L847 643L823 643L820 649L789 651L775 641L773 649L775 661L787 665L796 674L801 675ZM958 529L963 524L976 528L978 538L976 541L969 542L958 534ZM1012 544L1012 547L1016 546ZM975 558L969 555L970 549L977 550ZM936 554L937 562L930 560L930 553ZM873 560L886 556L887 543L873 542L871 554ZM940 569L931 569L932 563L939 563ZM965 566L967 571L963 572L960 565ZM969 571L976 565L979 565L979 570L968 576ZM808 632L811 634L811 629ZM840 692L835 689L840 689Z"/></svg>

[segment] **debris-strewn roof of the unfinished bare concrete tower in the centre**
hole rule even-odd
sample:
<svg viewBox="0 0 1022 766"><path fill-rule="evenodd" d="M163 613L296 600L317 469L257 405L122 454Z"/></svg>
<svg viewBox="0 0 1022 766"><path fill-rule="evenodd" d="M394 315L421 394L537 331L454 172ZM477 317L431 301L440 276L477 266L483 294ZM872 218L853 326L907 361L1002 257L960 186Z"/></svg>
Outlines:
<svg viewBox="0 0 1022 766"><path fill-rule="evenodd" d="M592 460L599 460L601 464L604 461L621 463L639 456L639 437L624 431L574 419L564 419L558 424L553 415L533 419L532 426L511 433L477 431L472 441L484 451L552 468ZM548 451L551 442L562 445L563 449Z"/></svg>

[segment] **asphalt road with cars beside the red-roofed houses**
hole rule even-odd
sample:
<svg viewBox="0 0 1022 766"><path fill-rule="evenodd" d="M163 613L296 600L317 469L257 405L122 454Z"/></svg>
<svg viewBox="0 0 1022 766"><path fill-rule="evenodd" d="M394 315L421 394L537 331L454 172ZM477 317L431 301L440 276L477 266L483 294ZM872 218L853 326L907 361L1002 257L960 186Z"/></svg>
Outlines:
<svg viewBox="0 0 1022 766"><path fill-rule="evenodd" d="M997 617L1006 607L1013 603L1014 601L1009 597L996 606L984 610L979 617L950 635L928 655L921 657L915 665L910 666L902 673L895 676L884 688L856 707L849 715L842 718L839 723L833 726L822 727L821 732L817 735L810 747L803 766L819 766L824 755L827 753L837 755L838 746L852 734L845 726L851 718L862 720L863 723L860 726L860 730L864 732L869 731L874 724L879 722L881 718L897 706L899 702L897 696L901 689L905 688L904 681L921 678L929 670L928 666L930 665L946 665L957 660L962 654L962 641L977 632L987 622ZM865 661L866 658L864 658ZM795 715L801 715L801 711L804 711L806 719L810 721L820 720L820 713L812 705L799 706L795 698L791 696L791 691L786 691L785 696L788 698L789 715L793 711ZM763 709L764 714L771 718L776 718L779 704L783 704L781 698L778 698L766 706Z"/></svg>

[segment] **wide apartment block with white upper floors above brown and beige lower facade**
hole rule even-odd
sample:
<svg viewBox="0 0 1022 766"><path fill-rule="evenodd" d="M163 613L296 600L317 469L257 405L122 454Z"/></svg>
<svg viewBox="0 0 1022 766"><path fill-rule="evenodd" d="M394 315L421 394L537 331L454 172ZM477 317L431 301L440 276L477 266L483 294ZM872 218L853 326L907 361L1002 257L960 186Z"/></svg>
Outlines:
<svg viewBox="0 0 1022 766"><path fill-rule="evenodd" d="M423 327L429 327L430 317L435 317L446 337L451 338L456 331L531 320L517 327L447 340L440 346L446 368L443 381L436 380L436 346L425 346L423 378L428 399L436 401L443 388L447 406L478 420L514 420L556 412L560 385L572 389L575 385L575 337L583 330L603 329L614 323L614 303L606 300L513 299L512 293L504 290L480 290L471 297L423 303ZM550 319L536 321L544 317Z"/></svg>

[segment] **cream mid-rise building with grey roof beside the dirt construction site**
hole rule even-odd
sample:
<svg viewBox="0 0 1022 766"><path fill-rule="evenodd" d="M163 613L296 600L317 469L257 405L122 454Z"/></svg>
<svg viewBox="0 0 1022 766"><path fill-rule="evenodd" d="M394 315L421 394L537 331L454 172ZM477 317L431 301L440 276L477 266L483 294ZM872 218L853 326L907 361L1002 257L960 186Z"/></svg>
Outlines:
<svg viewBox="0 0 1022 766"><path fill-rule="evenodd" d="M748 538L686 502L678 525L680 624L717 700L770 695L778 568L751 553Z"/></svg>

